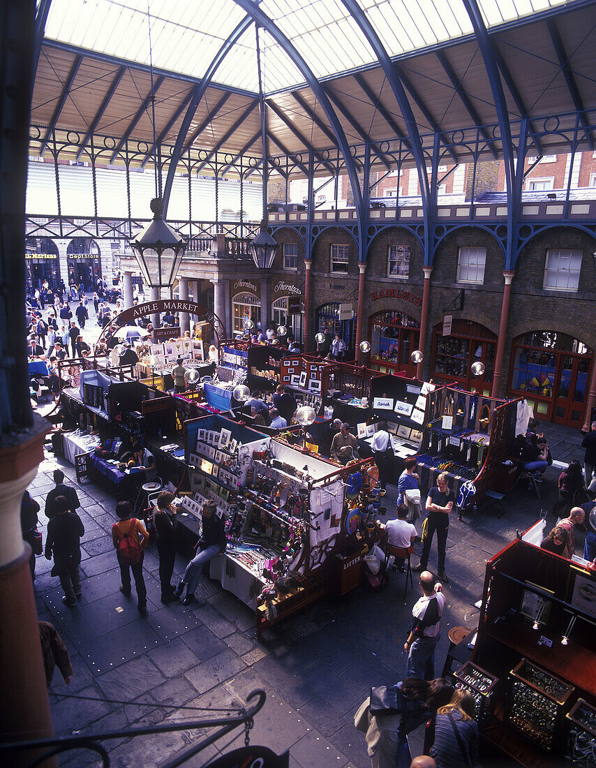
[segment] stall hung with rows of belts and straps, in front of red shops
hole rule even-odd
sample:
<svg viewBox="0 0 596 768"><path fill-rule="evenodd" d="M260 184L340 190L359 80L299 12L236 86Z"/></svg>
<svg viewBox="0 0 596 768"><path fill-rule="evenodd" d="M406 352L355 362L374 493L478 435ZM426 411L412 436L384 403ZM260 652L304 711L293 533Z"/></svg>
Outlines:
<svg viewBox="0 0 596 768"><path fill-rule="evenodd" d="M473 492L465 505L478 502L502 479L503 462L511 455L519 399L505 401L443 386L426 396L427 411L417 472L421 491L447 473L457 500L465 482Z"/></svg>

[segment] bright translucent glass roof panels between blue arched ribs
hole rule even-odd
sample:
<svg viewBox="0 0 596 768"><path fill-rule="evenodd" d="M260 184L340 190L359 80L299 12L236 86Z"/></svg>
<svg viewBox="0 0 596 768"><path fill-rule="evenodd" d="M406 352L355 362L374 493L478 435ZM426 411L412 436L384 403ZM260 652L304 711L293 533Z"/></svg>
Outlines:
<svg viewBox="0 0 596 768"><path fill-rule="evenodd" d="M490 28L527 17L567 0L478 0ZM472 33L462 0L359 0L391 56L399 56ZM233 0L52 0L45 37L80 48L204 75L217 51L245 14ZM567 5L571 3L567 2ZM317 78L376 63L358 25L341 0L262 0L261 10L290 38ZM304 82L285 51L260 31L263 90ZM217 69L214 81L259 90L254 27Z"/></svg>

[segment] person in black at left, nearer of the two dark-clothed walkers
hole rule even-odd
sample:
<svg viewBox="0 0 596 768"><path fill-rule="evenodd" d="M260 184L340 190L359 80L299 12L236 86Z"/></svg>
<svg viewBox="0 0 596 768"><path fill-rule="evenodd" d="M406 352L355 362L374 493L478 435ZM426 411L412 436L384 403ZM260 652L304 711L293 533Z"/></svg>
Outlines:
<svg viewBox="0 0 596 768"><path fill-rule="evenodd" d="M81 518L71 509L71 502L66 496L55 498L56 515L48 522L48 538L45 541L45 558L54 556L52 576L60 578L65 591L62 602L75 607L81 594L81 574L78 566L81 562L81 536L84 525Z"/></svg>

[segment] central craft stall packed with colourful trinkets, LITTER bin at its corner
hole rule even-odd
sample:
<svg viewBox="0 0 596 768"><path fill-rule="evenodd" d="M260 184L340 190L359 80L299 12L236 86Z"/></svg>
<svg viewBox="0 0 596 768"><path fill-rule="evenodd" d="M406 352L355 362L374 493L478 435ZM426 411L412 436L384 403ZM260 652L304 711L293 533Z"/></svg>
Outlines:
<svg viewBox="0 0 596 768"><path fill-rule="evenodd" d="M346 470L219 415L185 422L184 432L190 495L178 521L198 536L201 504L215 500L228 546L211 561L210 576L256 609L260 635L332 587L329 554L346 545L343 476L359 465ZM357 544L355 551L353 586ZM333 563L341 569L343 558Z"/></svg>

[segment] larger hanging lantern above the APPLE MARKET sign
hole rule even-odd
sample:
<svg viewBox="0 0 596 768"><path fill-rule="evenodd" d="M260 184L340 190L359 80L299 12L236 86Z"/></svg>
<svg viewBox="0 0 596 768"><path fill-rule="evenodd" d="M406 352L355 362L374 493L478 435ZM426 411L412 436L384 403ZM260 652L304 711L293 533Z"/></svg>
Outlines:
<svg viewBox="0 0 596 768"><path fill-rule="evenodd" d="M186 240L164 221L164 201L151 200L153 220L141 237L131 242L144 283L151 288L169 288L174 284L187 247Z"/></svg>

